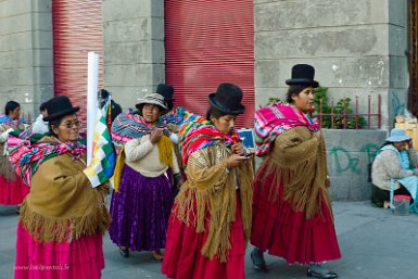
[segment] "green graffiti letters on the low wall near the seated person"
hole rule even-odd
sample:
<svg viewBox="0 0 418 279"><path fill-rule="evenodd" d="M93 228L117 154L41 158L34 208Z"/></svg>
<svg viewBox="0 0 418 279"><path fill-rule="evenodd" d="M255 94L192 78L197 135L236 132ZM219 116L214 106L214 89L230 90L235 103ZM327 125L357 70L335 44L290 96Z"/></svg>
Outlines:
<svg viewBox="0 0 418 279"><path fill-rule="evenodd" d="M337 174L366 174L368 170L360 168L358 165L359 156L366 154L367 163L371 163L375 158L376 152L379 147L373 143L364 144L358 152L349 152L341 147L333 147L329 153L332 162L335 164Z"/></svg>

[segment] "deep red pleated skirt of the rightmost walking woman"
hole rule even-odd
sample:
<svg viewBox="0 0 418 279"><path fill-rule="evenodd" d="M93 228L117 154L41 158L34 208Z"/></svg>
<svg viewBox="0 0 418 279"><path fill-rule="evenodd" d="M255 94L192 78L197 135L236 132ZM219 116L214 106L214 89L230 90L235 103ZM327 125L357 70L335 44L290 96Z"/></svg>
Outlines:
<svg viewBox="0 0 418 279"><path fill-rule="evenodd" d="M283 187L276 201L269 199L276 174L263 165L254 179L251 243L262 251L283 257L288 264L324 263L341 258L331 210L321 203L320 213L306 219L304 212L283 201ZM279 178L280 179L280 178Z"/></svg>

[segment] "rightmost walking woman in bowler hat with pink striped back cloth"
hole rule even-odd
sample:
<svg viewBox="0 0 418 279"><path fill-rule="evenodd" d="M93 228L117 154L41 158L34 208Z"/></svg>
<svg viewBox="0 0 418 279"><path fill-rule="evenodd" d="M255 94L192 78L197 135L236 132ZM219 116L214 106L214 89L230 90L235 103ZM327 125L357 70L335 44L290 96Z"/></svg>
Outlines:
<svg viewBox="0 0 418 279"><path fill-rule="evenodd" d="M288 264L308 265L307 276L337 278L321 263L341 257L334 229L326 144L317 119L311 118L315 69L292 67L288 103L255 112L256 155L265 160L254 179L251 259L266 270L263 252Z"/></svg>

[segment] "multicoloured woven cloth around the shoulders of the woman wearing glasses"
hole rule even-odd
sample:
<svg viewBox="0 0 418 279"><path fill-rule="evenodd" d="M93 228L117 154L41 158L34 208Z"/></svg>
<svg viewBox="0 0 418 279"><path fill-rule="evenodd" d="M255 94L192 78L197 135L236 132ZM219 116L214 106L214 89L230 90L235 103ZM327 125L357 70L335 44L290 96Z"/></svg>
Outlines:
<svg viewBox="0 0 418 279"><path fill-rule="evenodd" d="M16 132L18 135L18 131ZM39 139L39 137L41 137ZM30 187L30 180L39 166L64 153L69 153L73 158L80 158L86 153L86 145L80 141L61 142L54 137L34 134L10 151L9 161Z"/></svg>

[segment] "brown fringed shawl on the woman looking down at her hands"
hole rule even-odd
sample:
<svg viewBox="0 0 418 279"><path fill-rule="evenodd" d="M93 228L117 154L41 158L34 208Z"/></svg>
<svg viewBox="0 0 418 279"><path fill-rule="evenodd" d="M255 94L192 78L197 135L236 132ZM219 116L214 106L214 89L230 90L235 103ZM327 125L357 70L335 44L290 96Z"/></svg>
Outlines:
<svg viewBox="0 0 418 279"><path fill-rule="evenodd" d="M187 181L177 195L174 214L188 226L193 226L198 233L207 226L207 240L202 248L202 255L213 258L218 256L227 262L230 227L236 218L237 175L240 187L241 213L245 242L251 233L251 206L253 165L248 160L227 174L227 158L230 150L224 144L216 144L193 152L187 163Z"/></svg>

